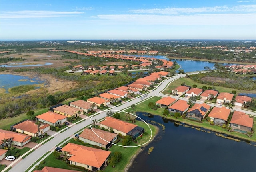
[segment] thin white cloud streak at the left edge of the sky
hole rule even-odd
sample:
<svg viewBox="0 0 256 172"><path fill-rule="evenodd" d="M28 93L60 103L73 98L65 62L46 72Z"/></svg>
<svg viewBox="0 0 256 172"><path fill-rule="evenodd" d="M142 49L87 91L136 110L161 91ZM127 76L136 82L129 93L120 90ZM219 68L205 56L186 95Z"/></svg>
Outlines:
<svg viewBox="0 0 256 172"><path fill-rule="evenodd" d="M70 17L83 12L58 12L58 11L9 11L2 12L0 18L51 18L51 17Z"/></svg>

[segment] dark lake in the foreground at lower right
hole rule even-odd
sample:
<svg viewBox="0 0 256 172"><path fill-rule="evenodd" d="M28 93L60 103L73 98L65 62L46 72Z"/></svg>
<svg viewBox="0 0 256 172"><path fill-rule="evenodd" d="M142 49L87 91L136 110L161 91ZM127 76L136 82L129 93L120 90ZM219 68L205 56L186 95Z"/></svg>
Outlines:
<svg viewBox="0 0 256 172"><path fill-rule="evenodd" d="M166 128L163 131L158 126L158 135L138 154L128 172L256 171L256 146L218 137L212 131L207 133L175 125L173 121L160 116L137 114L148 123L154 120ZM148 155L148 148L152 146L154 150Z"/></svg>

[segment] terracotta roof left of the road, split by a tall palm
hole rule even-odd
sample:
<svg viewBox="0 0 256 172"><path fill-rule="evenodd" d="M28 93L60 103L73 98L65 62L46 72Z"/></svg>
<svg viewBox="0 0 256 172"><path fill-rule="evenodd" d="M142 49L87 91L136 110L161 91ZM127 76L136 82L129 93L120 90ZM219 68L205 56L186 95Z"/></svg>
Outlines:
<svg viewBox="0 0 256 172"><path fill-rule="evenodd" d="M49 124L41 123L40 129L44 129L49 126L50 126ZM14 125L13 128L20 129L23 131L28 131L28 132L34 133L34 134L38 132L36 123L34 121L30 121L30 120L27 120L27 121L24 121L17 125Z"/></svg>

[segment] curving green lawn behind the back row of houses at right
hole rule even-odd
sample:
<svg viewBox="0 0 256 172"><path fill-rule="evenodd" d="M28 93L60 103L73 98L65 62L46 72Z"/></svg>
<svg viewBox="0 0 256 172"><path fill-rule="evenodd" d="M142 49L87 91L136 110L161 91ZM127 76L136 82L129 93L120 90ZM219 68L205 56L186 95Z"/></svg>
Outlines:
<svg viewBox="0 0 256 172"><path fill-rule="evenodd" d="M197 85L197 88L202 88L203 86L207 86L207 87L210 86L210 87L212 87L212 89L218 90L219 92L229 92L229 93L231 93L232 90L235 90L236 94L238 94L238 93L254 93L255 92L255 90L251 90L251 91L238 90L238 89L226 88L226 87L222 87L222 86L212 86L212 85L207 85L207 84L201 84L201 83L193 81L190 78L184 77L184 78L180 78L180 79L175 80L174 82L172 82L168 86L168 88L166 90L164 90L162 93L170 94L172 92L172 90L174 90L174 88L180 86L183 82L185 82L187 86L191 86L191 87L195 84L195 85Z"/></svg>

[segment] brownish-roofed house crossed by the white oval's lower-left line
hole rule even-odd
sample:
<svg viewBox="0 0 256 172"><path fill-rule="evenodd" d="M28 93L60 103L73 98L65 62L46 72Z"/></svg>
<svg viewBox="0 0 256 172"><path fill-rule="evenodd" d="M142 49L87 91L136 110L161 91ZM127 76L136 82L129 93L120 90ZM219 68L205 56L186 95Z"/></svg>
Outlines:
<svg viewBox="0 0 256 172"><path fill-rule="evenodd" d="M92 131L93 130L93 131ZM101 129L84 129L84 131L79 135L79 140L89 143L90 145L97 145L107 149L116 141L116 133L111 133Z"/></svg>

